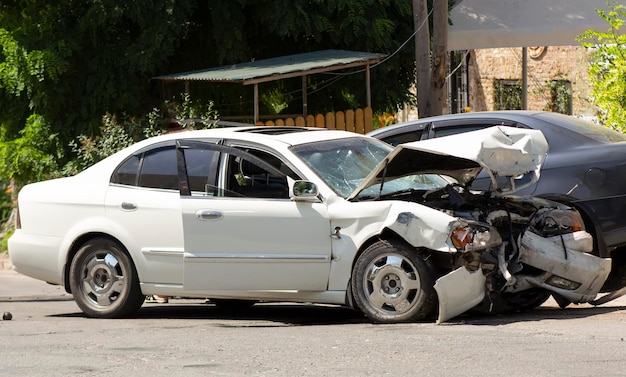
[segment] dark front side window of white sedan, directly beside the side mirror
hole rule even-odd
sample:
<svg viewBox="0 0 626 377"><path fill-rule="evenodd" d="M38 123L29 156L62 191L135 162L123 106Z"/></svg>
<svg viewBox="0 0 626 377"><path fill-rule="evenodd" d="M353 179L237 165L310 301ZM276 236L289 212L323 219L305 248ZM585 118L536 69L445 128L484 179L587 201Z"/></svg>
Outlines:
<svg viewBox="0 0 626 377"><path fill-rule="evenodd" d="M226 195L251 198L288 199L287 176L296 174L279 158L258 150L246 150L283 174L269 171L253 159L229 156L226 175Z"/></svg>

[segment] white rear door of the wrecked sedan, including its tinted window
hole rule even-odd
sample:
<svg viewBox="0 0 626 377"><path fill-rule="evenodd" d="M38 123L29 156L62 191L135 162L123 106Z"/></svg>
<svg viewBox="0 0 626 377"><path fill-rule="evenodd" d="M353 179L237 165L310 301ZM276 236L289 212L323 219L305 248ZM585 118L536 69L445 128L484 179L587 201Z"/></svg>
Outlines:
<svg viewBox="0 0 626 377"><path fill-rule="evenodd" d="M144 283L182 284L183 227L176 149L151 146L114 171L105 198L107 217L128 247Z"/></svg>

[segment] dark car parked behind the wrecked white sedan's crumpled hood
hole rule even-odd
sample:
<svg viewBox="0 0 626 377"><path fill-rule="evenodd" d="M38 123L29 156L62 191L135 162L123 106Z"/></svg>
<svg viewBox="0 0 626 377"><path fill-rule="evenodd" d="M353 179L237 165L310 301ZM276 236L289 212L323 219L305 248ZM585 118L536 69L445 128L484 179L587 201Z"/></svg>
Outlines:
<svg viewBox="0 0 626 377"><path fill-rule="evenodd" d="M369 135L397 145L500 125L540 130L550 147L539 181L516 194L578 208L595 253L612 257L614 270L626 265L626 135L573 116L518 110L422 118Z"/></svg>

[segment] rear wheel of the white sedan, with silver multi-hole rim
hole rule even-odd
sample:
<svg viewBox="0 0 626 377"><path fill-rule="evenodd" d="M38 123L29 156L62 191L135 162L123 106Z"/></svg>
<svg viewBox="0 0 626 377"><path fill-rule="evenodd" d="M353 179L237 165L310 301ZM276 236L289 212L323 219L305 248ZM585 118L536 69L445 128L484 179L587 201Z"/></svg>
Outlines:
<svg viewBox="0 0 626 377"><path fill-rule="evenodd" d="M76 253L70 288L76 304L89 317L125 317L145 299L130 257L106 238L95 238Z"/></svg>

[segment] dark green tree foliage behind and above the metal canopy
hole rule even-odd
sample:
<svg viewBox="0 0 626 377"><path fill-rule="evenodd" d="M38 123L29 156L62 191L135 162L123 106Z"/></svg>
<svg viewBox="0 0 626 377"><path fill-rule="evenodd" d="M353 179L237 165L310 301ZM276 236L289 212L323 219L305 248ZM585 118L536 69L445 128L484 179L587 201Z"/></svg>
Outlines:
<svg viewBox="0 0 626 377"><path fill-rule="evenodd" d="M145 114L160 102L151 81L159 74L321 49L391 55L413 32L411 15L409 0L3 1L0 125L15 137L37 113L67 141L97 130L107 112ZM372 71L376 109L413 99L413 56L409 45ZM313 75L308 85L311 112L364 106L362 72ZM214 100L223 115L251 112L249 87L196 86L194 97ZM299 112L300 86L293 79L262 90L289 94L280 108ZM275 98L262 110L275 109Z"/></svg>

